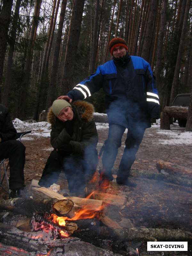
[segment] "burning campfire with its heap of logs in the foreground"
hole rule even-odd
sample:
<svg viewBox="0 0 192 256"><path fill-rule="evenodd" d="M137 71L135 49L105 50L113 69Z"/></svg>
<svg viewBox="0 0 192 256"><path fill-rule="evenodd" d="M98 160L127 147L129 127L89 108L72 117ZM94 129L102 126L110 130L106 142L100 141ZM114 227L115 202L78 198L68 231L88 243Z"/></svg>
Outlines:
<svg viewBox="0 0 192 256"><path fill-rule="evenodd" d="M99 174L86 188L86 198L65 196L35 181L33 198L0 199L0 255L142 256L148 255L141 250L144 241L192 240L190 232L179 229L124 227L111 216L123 212L131 200L114 182L98 190L98 181Z"/></svg>

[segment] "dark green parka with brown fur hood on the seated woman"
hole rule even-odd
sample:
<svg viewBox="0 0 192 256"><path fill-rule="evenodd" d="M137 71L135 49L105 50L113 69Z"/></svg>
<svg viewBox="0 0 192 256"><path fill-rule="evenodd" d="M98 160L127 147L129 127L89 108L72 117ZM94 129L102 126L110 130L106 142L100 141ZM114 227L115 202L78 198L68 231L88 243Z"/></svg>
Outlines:
<svg viewBox="0 0 192 256"><path fill-rule="evenodd" d="M66 131L66 123L60 121L52 112L52 107L47 114L47 121L51 124L51 145L60 148L63 144L72 146L73 154L83 155L87 151L96 149L98 133L93 118L94 107L92 104L77 100L71 104L74 112L73 134ZM66 121L68 122L68 121Z"/></svg>

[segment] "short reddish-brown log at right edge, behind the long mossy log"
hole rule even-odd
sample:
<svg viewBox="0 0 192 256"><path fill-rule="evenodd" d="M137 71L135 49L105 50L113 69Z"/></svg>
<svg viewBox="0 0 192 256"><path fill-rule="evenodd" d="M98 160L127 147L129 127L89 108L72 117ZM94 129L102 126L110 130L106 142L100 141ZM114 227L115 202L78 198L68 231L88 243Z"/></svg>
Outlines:
<svg viewBox="0 0 192 256"><path fill-rule="evenodd" d="M159 160L156 163L156 167L159 172L161 170L164 170L165 172L168 172L169 174L172 174L172 175L188 175L192 177L192 170L187 169L178 164L173 164L170 162Z"/></svg>

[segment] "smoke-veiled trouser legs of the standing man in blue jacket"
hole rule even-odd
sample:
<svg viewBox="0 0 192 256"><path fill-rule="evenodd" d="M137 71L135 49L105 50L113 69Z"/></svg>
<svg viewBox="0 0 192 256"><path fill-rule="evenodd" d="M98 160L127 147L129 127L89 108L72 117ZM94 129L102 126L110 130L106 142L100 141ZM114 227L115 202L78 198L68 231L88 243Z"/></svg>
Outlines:
<svg viewBox="0 0 192 256"><path fill-rule="evenodd" d="M102 163L105 175L110 180L113 179L111 170L116 160L118 148L121 147L121 140L125 129L125 127L118 124L109 124L108 139L105 142ZM144 132L145 128L136 125L132 125L132 127L128 129L124 153L117 173L119 178L127 179L130 175L131 166L135 161L135 155L143 139Z"/></svg>

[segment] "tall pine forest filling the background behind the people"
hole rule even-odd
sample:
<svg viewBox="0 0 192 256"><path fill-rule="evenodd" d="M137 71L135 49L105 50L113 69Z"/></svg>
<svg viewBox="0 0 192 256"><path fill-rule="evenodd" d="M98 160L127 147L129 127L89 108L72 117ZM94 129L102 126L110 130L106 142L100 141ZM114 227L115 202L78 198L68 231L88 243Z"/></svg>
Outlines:
<svg viewBox="0 0 192 256"><path fill-rule="evenodd" d="M0 23L0 97L13 118L38 120L111 59L114 37L150 63L161 111L192 93L191 0L1 0ZM102 90L88 100L104 113Z"/></svg>

